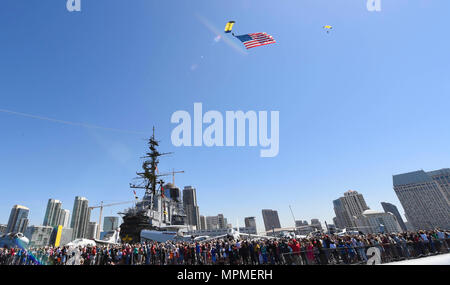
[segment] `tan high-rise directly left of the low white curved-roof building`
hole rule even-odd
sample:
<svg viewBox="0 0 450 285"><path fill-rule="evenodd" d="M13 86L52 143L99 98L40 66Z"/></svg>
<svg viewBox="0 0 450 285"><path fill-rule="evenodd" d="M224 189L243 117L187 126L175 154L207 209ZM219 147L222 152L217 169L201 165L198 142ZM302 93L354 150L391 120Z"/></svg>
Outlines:
<svg viewBox="0 0 450 285"><path fill-rule="evenodd" d="M355 217L361 215L365 210L369 210L363 195L354 190L349 190L344 193L344 197L334 200L333 206L336 214L336 226L339 228L356 227Z"/></svg>

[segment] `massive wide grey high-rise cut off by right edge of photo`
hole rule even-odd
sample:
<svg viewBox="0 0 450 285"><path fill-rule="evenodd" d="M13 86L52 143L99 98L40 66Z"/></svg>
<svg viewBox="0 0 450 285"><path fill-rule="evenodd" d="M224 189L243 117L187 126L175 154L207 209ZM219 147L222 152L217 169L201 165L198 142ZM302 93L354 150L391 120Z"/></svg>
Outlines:
<svg viewBox="0 0 450 285"><path fill-rule="evenodd" d="M393 176L394 191L416 230L450 228L448 169Z"/></svg>

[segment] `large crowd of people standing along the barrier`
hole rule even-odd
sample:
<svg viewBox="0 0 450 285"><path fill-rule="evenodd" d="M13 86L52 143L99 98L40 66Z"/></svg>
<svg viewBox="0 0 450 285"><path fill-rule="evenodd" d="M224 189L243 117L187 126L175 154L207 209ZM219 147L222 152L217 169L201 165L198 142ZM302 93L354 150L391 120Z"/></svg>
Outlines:
<svg viewBox="0 0 450 285"><path fill-rule="evenodd" d="M382 263L449 253L450 232L328 235L258 240L215 239L71 248L3 248L0 265L312 265Z"/></svg>

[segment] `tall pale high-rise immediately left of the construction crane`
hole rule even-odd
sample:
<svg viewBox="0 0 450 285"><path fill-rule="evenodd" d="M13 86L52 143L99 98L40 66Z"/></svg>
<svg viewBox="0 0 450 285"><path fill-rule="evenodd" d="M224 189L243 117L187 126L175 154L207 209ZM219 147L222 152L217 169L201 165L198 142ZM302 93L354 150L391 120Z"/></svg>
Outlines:
<svg viewBox="0 0 450 285"><path fill-rule="evenodd" d="M91 217L89 201L84 197L75 197L72 210L72 220L70 227L73 229L73 239L86 238L88 233L88 224Z"/></svg>

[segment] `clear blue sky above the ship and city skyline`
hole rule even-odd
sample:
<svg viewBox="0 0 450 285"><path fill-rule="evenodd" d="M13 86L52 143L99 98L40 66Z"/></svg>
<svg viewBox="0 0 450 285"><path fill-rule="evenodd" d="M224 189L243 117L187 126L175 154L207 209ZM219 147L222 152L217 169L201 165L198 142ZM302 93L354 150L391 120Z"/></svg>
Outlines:
<svg viewBox="0 0 450 285"><path fill-rule="evenodd" d="M0 223L23 204L41 224L48 198L69 210L76 195L132 200L153 125L161 150L176 152L160 170L186 171L176 184L197 188L202 215L256 216L259 228L264 208L292 226L289 205L297 219L330 222L349 189L372 209L400 206L393 174L449 166L447 0L384 0L379 13L365 0L82 0L80 13L65 2L2 1L0 109L144 134L0 112ZM277 43L215 42L211 27L222 34L228 20ZM172 146L170 116L194 102L279 110L279 155Z"/></svg>

